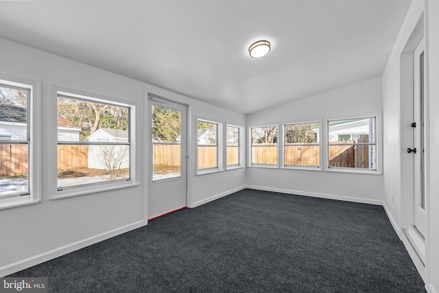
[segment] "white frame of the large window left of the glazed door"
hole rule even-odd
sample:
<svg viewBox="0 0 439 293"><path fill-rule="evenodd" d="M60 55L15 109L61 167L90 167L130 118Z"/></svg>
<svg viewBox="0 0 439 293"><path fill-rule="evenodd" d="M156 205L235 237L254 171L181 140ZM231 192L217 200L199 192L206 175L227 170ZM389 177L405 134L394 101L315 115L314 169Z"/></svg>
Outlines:
<svg viewBox="0 0 439 293"><path fill-rule="evenodd" d="M54 96L54 123L51 127L51 132L54 134L54 148L51 154L53 160L51 163L51 187L55 192L51 193L51 200L57 200L60 198L69 198L72 196L82 196L86 194L94 194L102 191L110 191L114 189L122 189L128 187L134 187L139 185L136 176L136 108L137 105L132 102L123 101L122 99L112 98L108 96L97 95L93 93L81 93L80 91L62 89L57 86L52 86L52 96ZM94 141L93 143L87 143L86 141L58 141L58 97L67 97L71 99L83 100L85 102L96 102L100 104L109 104L111 106L120 106L128 108L128 144L127 143L110 143ZM116 102L118 101L118 102ZM128 145L129 148L129 178L123 178L120 180L109 180L99 183L89 183L85 185L73 185L69 187L58 187L58 145Z"/></svg>

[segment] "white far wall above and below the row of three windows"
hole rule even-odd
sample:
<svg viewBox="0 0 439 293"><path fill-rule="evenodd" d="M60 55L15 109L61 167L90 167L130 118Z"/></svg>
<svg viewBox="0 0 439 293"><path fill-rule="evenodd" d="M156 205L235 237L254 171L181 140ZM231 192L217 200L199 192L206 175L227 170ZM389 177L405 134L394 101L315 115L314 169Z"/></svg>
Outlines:
<svg viewBox="0 0 439 293"><path fill-rule="evenodd" d="M365 80L250 114L247 117L247 125L351 118L361 115L380 115L381 119L381 78ZM377 174L248 167L247 184L253 188L290 194L372 204L381 204L383 196L383 176Z"/></svg>

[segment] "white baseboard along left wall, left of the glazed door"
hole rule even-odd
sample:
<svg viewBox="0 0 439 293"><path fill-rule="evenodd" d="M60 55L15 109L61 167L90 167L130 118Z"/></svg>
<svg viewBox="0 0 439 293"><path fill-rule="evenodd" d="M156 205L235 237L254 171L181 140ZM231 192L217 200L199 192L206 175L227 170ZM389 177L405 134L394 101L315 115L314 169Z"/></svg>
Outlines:
<svg viewBox="0 0 439 293"><path fill-rule="evenodd" d="M13 274L14 272L19 272L20 270L24 270L25 268L30 268L31 266L36 266L39 263L43 263L45 261L49 261L51 259L55 259L56 257L60 257L62 255L67 255L67 253L73 253L73 251L84 248L86 246L90 246L92 244L96 244L97 242L102 242L111 237L115 237L117 235L126 233L128 231L134 230L136 228L140 228L145 226L147 222L139 221L133 224L129 224L120 228L116 228L114 230L95 235L93 237L89 237L78 242L74 242L72 244L67 244L66 246L62 246L60 248L55 248L54 250L49 250L45 253L41 253L40 255L35 255L34 257L29 257L27 259L23 259L21 261L16 261L15 263L11 263L9 265L0 267L0 277L8 276L9 274Z"/></svg>

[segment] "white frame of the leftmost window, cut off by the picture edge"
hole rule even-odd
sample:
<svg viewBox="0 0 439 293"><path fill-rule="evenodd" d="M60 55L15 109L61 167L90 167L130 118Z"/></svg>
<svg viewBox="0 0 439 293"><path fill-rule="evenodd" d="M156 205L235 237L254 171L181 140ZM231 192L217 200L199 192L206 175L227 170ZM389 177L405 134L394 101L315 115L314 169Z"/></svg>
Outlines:
<svg viewBox="0 0 439 293"><path fill-rule="evenodd" d="M14 81L12 81L14 80ZM21 78L2 75L0 84L20 90L26 90L27 97L27 139L26 141L2 140L1 143L27 144L27 192L5 195L0 198L0 210L12 207L21 207L27 204L35 204L41 201L40 185L40 82L23 80ZM12 137L11 137L12 138Z"/></svg>

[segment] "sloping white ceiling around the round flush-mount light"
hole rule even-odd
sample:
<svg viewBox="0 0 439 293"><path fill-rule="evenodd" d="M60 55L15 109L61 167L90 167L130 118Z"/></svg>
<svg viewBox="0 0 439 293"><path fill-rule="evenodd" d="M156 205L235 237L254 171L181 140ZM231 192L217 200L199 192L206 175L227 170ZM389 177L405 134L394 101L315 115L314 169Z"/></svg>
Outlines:
<svg viewBox="0 0 439 293"><path fill-rule="evenodd" d="M0 37L248 114L381 76L410 3L0 1Z"/></svg>

